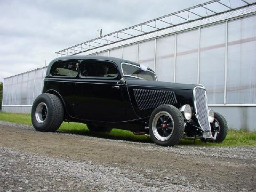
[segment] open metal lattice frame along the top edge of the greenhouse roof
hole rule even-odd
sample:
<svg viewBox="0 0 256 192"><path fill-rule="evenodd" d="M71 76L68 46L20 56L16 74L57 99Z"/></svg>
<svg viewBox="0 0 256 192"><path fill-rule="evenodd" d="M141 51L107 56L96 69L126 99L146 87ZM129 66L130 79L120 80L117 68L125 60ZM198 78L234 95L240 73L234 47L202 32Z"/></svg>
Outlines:
<svg viewBox="0 0 256 192"><path fill-rule="evenodd" d="M250 3L249 0L236 0L236 3L241 5L232 6L230 4L230 0L228 0L228 4L227 0L212 0L203 4L189 7L184 10L164 15L156 19L139 23L138 25L124 28L98 38L91 39L89 41L68 47L55 53L57 53L57 56L59 54L61 56L76 55L98 49L99 47L125 41L134 37L154 33L155 31L175 27L191 21L205 19L214 15L256 4L255 1ZM216 10L216 7L218 7L218 10Z"/></svg>

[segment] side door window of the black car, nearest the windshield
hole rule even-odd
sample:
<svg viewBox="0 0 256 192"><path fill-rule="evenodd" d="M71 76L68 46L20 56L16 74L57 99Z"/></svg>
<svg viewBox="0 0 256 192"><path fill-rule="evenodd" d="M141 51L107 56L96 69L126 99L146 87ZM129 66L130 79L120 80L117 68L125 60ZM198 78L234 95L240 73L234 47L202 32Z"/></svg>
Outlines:
<svg viewBox="0 0 256 192"><path fill-rule="evenodd" d="M114 63L107 61L82 61L81 76L116 78L118 70Z"/></svg>

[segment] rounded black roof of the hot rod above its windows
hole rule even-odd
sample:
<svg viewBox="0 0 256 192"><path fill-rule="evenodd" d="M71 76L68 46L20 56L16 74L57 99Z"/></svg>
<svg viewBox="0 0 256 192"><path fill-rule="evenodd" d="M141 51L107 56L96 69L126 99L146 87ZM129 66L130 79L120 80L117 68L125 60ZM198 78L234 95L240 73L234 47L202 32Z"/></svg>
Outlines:
<svg viewBox="0 0 256 192"><path fill-rule="evenodd" d="M133 65L136 66L140 66L139 63L137 62L133 62L133 61L129 61L129 60L125 60L125 59L121 59L121 58L114 58L114 57L105 57L105 56L99 56L99 55L71 55L71 56L66 56L66 57L59 57L56 59L53 59L48 66L48 69L46 71L46 75L50 73L50 69L53 65L54 62L57 61L63 61L63 60L83 60L83 59L92 59L92 60L102 60L102 61L112 61L115 62L116 65L118 66L119 69L121 69L121 63L122 62L127 62L127 63L131 63ZM150 69L148 67L149 70L153 71L152 69Z"/></svg>

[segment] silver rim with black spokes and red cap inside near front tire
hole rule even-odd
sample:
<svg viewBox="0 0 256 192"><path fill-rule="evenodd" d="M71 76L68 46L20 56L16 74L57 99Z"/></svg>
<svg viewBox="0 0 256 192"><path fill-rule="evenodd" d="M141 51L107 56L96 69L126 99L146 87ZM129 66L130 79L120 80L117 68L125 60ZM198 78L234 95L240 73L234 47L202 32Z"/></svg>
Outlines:
<svg viewBox="0 0 256 192"><path fill-rule="evenodd" d="M174 131L174 121L172 116L166 111L158 112L153 118L152 131L159 141L168 140Z"/></svg>

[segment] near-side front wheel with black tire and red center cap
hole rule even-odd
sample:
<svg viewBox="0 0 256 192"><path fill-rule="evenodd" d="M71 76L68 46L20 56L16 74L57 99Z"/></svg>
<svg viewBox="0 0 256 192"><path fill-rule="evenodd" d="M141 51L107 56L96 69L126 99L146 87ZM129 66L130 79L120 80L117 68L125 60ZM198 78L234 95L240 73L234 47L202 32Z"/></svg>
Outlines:
<svg viewBox="0 0 256 192"><path fill-rule="evenodd" d="M149 119L150 138L157 145L177 145L182 138L184 128L182 114L171 105L157 107Z"/></svg>

